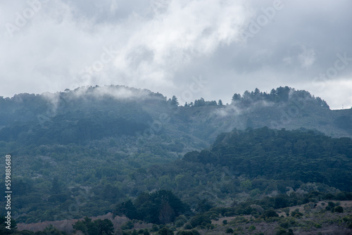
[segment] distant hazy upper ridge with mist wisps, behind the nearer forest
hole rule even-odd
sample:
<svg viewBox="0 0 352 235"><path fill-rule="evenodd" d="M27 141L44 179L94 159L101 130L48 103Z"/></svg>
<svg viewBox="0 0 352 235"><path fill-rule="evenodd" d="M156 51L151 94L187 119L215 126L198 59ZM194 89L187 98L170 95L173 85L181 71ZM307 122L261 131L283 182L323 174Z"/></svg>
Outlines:
<svg viewBox="0 0 352 235"><path fill-rule="evenodd" d="M258 89L234 94L226 106L204 99L186 106L177 103L175 96L167 100L158 93L121 86L0 97L0 140L37 146L86 144L139 133L196 138L210 144L221 132L263 126L352 136L352 109L329 110L319 97L289 87L268 94Z"/></svg>

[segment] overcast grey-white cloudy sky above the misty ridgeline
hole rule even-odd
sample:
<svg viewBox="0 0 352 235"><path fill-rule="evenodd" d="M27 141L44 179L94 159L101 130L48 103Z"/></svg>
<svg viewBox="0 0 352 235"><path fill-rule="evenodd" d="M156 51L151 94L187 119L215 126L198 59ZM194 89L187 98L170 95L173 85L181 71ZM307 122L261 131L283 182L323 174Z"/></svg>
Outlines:
<svg viewBox="0 0 352 235"><path fill-rule="evenodd" d="M0 96L119 84L222 99L279 86L352 106L352 1L0 1Z"/></svg>

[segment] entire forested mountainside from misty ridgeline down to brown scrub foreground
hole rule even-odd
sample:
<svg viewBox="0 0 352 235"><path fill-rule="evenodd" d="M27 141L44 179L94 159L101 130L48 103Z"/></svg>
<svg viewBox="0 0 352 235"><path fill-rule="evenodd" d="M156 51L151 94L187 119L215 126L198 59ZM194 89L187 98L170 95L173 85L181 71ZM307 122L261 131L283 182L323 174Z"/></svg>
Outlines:
<svg viewBox="0 0 352 235"><path fill-rule="evenodd" d="M180 106L148 90L81 87L1 97L0 115L17 222L113 212L211 229L217 213L264 220L274 209L352 200L352 109L330 110L307 91Z"/></svg>

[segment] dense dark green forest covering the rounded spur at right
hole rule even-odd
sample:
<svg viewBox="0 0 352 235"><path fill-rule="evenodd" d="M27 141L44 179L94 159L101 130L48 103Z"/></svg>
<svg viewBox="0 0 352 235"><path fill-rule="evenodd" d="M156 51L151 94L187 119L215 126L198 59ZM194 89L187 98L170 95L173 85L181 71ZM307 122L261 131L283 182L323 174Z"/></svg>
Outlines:
<svg viewBox="0 0 352 235"><path fill-rule="evenodd" d="M220 134L213 147L183 160L230 167L251 178L320 182L352 190L352 140L313 131L260 129Z"/></svg>

